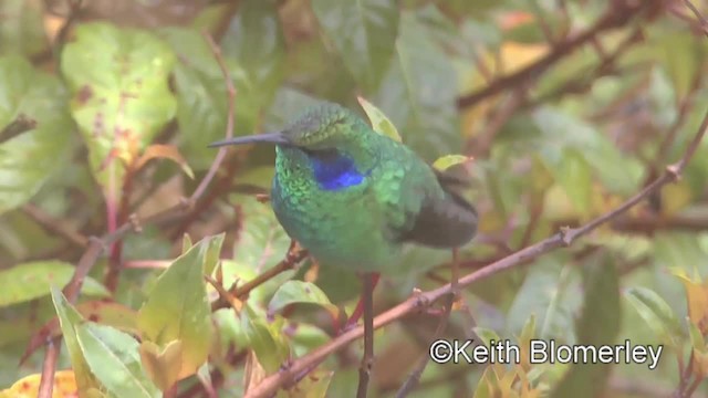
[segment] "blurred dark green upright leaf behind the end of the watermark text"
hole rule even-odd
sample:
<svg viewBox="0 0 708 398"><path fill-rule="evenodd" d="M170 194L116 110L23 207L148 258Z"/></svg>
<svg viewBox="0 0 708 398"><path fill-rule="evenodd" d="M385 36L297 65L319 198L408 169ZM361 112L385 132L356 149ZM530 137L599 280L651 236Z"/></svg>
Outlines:
<svg viewBox="0 0 708 398"><path fill-rule="evenodd" d="M612 345L621 326L620 279L613 259L602 254L583 268L583 310L575 324L581 345ZM597 397L606 388L611 364L573 364L551 397Z"/></svg>

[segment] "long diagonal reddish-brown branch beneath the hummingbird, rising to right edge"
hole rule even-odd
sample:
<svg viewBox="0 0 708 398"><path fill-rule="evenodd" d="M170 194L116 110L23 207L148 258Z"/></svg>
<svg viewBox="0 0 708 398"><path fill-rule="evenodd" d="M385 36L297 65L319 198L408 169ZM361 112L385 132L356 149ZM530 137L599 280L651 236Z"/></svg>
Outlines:
<svg viewBox="0 0 708 398"><path fill-rule="evenodd" d="M459 286L465 287L477 281L485 280L491 275L498 274L502 271L512 269L514 266L521 265L529 260L533 260L539 258L540 255L548 253L552 250L562 247L571 245L575 240L586 235L587 233L595 230L601 224L617 218L622 213L629 210L632 207L644 200L648 195L658 191L662 187L669 182L676 181L688 161L691 159L694 154L696 153L698 145L700 144L704 135L706 134L706 128L708 127L708 112L704 116L704 119L700 124L698 132L696 132L694 139L686 148L683 157L675 164L669 165L665 168L664 174L658 177L654 182L646 186L638 193L626 200L622 206L616 209L592 220L591 222L574 229L563 228L555 235L548 238L541 242L538 242L533 245L527 247L511 255L508 255L488 266L477 270L466 276L461 277L459 281ZM451 284L444 285L441 287L412 296L405 302L398 304L397 306L388 310L387 312L378 315L374 320L374 328L383 327L389 323L393 323L403 316L410 314L415 311L420 311L431 303L436 302L440 297L452 292ZM291 365L277 374L270 375L264 378L258 386L250 389L246 397L247 398L256 398L256 397L269 397L274 395L280 388L283 386L290 385L295 376L305 371L306 369L314 369L314 367L324 360L330 354L335 353L350 343L361 338L364 335L364 328L358 326L356 328L350 329L333 341L324 344L323 346L314 349L310 354L295 359L291 363Z"/></svg>

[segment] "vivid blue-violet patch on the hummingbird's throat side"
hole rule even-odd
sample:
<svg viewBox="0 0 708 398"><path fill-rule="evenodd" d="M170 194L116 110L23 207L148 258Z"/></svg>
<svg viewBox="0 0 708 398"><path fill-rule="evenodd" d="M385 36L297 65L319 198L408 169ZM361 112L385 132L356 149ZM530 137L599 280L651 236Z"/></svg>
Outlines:
<svg viewBox="0 0 708 398"><path fill-rule="evenodd" d="M312 156L312 169L320 188L337 191L354 187L364 181L365 176L356 169L352 158L336 154L334 156Z"/></svg>

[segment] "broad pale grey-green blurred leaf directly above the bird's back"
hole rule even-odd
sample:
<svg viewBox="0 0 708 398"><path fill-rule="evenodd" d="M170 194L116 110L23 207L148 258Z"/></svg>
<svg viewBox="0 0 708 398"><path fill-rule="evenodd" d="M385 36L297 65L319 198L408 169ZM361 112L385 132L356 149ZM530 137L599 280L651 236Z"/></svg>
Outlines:
<svg viewBox="0 0 708 398"><path fill-rule="evenodd" d="M404 11L394 62L371 100L425 159L459 148L457 75L430 29Z"/></svg>

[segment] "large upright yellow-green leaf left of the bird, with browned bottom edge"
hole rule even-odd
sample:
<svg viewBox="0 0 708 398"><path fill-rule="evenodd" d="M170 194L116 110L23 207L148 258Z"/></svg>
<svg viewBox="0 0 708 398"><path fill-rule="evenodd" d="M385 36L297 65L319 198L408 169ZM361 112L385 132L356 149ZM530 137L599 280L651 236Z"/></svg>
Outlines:
<svg viewBox="0 0 708 398"><path fill-rule="evenodd" d="M205 238L177 258L157 279L138 312L143 341L164 348L174 341L183 344L179 378L190 376L205 363L211 344L211 307L204 270L212 245L222 235Z"/></svg>

